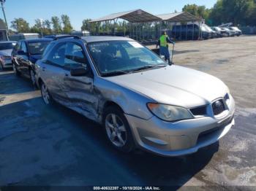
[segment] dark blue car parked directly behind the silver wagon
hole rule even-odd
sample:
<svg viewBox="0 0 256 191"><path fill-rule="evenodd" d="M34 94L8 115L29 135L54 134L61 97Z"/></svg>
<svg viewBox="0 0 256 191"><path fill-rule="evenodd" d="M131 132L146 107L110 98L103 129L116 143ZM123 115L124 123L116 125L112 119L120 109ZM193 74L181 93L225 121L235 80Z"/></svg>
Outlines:
<svg viewBox="0 0 256 191"><path fill-rule="evenodd" d="M22 74L36 85L34 63L42 58L45 48L51 41L52 39L20 40L12 50L12 67L15 74Z"/></svg>

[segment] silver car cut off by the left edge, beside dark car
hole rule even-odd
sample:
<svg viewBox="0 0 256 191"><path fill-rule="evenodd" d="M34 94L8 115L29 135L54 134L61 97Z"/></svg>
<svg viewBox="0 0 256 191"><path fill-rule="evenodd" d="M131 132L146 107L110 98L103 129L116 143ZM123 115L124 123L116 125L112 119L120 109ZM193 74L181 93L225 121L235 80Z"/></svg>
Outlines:
<svg viewBox="0 0 256 191"><path fill-rule="evenodd" d="M15 41L0 42L0 71L12 67L12 49L16 44Z"/></svg>

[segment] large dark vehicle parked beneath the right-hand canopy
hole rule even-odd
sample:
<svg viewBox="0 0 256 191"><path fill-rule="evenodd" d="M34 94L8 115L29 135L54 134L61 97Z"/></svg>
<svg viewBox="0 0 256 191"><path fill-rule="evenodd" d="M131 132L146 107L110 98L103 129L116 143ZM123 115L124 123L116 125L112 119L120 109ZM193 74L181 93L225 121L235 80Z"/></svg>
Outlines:
<svg viewBox="0 0 256 191"><path fill-rule="evenodd" d="M173 26L172 37L179 40L211 39L211 32L197 24Z"/></svg>

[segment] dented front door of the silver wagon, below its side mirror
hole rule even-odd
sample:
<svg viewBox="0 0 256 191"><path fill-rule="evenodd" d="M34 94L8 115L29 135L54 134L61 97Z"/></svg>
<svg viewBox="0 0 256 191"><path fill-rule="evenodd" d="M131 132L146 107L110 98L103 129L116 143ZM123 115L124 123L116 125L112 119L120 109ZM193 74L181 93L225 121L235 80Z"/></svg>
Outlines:
<svg viewBox="0 0 256 191"><path fill-rule="evenodd" d="M93 72L80 44L75 42L67 43L65 66L69 70L82 67L89 71L87 74L78 77L74 77L67 72L64 77L64 91L72 109L94 120L97 117L98 99L94 94Z"/></svg>

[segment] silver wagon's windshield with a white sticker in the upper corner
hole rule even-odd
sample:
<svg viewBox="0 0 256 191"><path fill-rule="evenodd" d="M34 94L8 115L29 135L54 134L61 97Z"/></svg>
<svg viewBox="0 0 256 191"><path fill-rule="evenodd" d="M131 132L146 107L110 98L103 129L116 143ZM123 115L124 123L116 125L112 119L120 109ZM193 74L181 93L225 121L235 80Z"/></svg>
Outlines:
<svg viewBox="0 0 256 191"><path fill-rule="evenodd" d="M105 77L167 66L138 42L91 42L88 47L98 71Z"/></svg>

